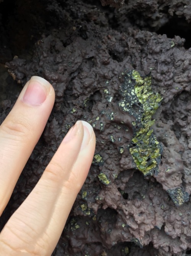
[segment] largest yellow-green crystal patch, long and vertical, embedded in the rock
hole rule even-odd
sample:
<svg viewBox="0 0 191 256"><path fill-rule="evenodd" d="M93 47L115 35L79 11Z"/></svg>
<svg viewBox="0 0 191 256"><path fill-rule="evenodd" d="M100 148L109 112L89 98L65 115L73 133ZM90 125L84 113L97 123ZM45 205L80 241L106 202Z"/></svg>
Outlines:
<svg viewBox="0 0 191 256"><path fill-rule="evenodd" d="M158 172L162 145L152 134L151 126L155 122L152 116L158 109L162 97L152 91L151 76L143 77L135 70L126 71L120 92L123 99L119 106L135 118L132 122L134 136L128 149L136 168L144 175Z"/></svg>

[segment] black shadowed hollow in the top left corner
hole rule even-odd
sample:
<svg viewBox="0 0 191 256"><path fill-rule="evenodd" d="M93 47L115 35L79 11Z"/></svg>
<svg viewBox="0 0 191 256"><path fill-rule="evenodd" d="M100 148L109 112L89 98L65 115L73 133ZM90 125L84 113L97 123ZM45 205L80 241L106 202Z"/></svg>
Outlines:
<svg viewBox="0 0 191 256"><path fill-rule="evenodd" d="M2 26L6 33L5 46L14 55L29 56L31 47L45 30L45 6L38 0L6 0L0 5ZM4 39L4 38L3 38Z"/></svg>

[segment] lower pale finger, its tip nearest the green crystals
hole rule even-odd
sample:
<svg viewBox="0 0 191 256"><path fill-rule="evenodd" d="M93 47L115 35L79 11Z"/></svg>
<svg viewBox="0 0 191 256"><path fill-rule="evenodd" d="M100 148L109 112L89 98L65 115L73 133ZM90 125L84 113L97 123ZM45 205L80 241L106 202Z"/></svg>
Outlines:
<svg viewBox="0 0 191 256"><path fill-rule="evenodd" d="M3 255L52 254L87 176L94 150L95 134L91 125L78 121L34 190L5 225L0 234Z"/></svg>

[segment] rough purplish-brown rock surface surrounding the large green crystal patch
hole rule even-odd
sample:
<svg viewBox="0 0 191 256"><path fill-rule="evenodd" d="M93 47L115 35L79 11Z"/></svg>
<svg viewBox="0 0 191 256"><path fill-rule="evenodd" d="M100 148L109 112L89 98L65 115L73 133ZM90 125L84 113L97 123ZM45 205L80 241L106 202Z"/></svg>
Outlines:
<svg viewBox="0 0 191 256"><path fill-rule="evenodd" d="M153 4L153 12L161 12L159 1L144 2ZM127 1L129 8L130 3L142 10L143 1ZM172 13L185 15L186 26L190 9L181 14L183 9L177 5ZM68 129L83 119L92 124L97 137L94 160L52 255L189 255L191 48L186 50L179 36L137 30L129 26L130 21L121 33L111 26L108 10L81 1L75 5L65 1L64 8L53 1L47 5L47 12L51 10L57 15L57 26L49 32L50 26L45 26L32 58L16 57L6 63L19 84L32 75L48 79L55 88L56 102L2 223L30 193ZM142 11L143 28L146 23L152 27L146 10ZM111 15L117 17L117 12ZM50 21L54 21L51 16ZM153 176L136 169L128 150L135 117L120 107L126 70L151 74L152 90L163 97L152 127L163 148L159 172ZM10 107L10 101L3 102L1 121ZM139 106L133 107L139 111Z"/></svg>

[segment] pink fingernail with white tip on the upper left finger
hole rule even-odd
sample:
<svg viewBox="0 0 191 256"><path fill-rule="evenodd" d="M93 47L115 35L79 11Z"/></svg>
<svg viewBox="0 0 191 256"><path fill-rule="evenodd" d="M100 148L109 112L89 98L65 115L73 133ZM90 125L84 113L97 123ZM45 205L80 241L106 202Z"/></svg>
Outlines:
<svg viewBox="0 0 191 256"><path fill-rule="evenodd" d="M22 101L32 106L40 105L45 101L49 88L50 83L44 78L32 76Z"/></svg>

